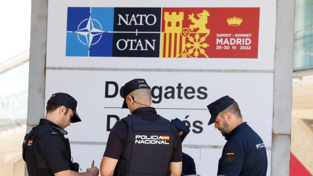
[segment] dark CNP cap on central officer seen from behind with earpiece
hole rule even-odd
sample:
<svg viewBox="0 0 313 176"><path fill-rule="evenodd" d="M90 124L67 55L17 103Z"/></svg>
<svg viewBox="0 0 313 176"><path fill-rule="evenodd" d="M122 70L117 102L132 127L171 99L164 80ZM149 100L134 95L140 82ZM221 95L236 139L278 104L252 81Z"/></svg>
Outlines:
<svg viewBox="0 0 313 176"><path fill-rule="evenodd" d="M141 84L145 84L147 86L139 86ZM123 102L123 105L122 105L122 109L123 108L127 108L128 109L128 106L126 104L126 96L128 94L130 94L132 91L135 91L137 89L151 89L149 87L149 85L147 84L146 80L145 79L133 79L129 82L127 82L123 87L122 87L122 92L123 92L123 98L124 98L124 102Z"/></svg>

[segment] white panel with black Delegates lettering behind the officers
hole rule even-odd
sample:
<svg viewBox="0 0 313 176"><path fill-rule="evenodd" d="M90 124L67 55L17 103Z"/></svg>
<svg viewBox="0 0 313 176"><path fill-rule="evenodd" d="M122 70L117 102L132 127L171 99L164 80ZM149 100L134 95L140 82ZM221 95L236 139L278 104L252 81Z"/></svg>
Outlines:
<svg viewBox="0 0 313 176"><path fill-rule="evenodd" d="M76 142L106 142L109 130L116 120L129 114L128 109L121 109L121 86L128 80L143 76L152 88L155 102L152 106L158 114L168 120L179 118L190 124L191 132L184 140L184 145L225 144L226 141L220 132L214 129L213 125L207 125L210 114L206 106L221 96L229 95L239 103L244 121L262 137L266 147L271 146L272 73L124 71L116 74L115 71L47 70L45 101L55 92L67 92L72 95L78 101L77 111L82 122L67 127L67 137ZM67 78L66 81L60 83L58 80L61 77ZM173 91L169 91L169 87L173 87ZM173 93L172 96L169 92ZM104 149L105 146L92 153L102 156ZM198 156L200 153L196 151L191 154ZM215 159L217 162L218 158ZM199 168L200 173L201 169L206 170Z"/></svg>

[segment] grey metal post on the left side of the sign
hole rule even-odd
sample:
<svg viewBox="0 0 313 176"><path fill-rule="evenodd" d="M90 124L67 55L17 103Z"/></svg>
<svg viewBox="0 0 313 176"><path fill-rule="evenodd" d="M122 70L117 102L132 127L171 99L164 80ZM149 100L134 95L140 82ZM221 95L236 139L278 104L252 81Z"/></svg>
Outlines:
<svg viewBox="0 0 313 176"><path fill-rule="evenodd" d="M44 115L48 0L32 0L30 25L27 132ZM25 175L28 176L25 163Z"/></svg>

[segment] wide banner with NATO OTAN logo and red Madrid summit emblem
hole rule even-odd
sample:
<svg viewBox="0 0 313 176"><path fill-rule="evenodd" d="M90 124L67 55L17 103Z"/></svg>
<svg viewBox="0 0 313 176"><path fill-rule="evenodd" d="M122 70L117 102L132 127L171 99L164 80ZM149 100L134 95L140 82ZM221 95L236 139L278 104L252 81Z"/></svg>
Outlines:
<svg viewBox="0 0 313 176"><path fill-rule="evenodd" d="M67 9L66 56L258 58L259 8Z"/></svg>

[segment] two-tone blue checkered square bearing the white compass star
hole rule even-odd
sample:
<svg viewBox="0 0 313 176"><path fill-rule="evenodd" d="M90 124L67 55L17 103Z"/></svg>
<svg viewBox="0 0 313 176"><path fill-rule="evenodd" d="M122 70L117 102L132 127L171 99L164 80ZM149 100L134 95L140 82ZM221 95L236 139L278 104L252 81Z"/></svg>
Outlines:
<svg viewBox="0 0 313 176"><path fill-rule="evenodd" d="M112 56L114 8L69 7L66 56Z"/></svg>

